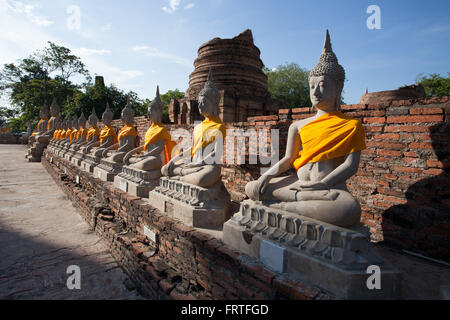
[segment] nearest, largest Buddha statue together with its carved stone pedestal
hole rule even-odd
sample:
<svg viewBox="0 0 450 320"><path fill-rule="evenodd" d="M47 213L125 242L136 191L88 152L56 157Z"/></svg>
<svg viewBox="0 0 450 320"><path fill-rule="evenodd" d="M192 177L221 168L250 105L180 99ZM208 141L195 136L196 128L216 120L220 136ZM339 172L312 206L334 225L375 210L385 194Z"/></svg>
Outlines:
<svg viewBox="0 0 450 320"><path fill-rule="evenodd" d="M398 272L370 244L359 222L359 202L346 188L358 170L365 134L358 120L340 111L344 80L327 30L309 75L317 113L291 124L284 158L246 185L250 199L225 223L223 241L341 298L395 297ZM296 175L281 176L291 168ZM383 293L368 290L362 277L371 264L382 266Z"/></svg>

